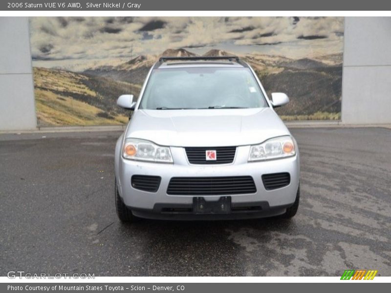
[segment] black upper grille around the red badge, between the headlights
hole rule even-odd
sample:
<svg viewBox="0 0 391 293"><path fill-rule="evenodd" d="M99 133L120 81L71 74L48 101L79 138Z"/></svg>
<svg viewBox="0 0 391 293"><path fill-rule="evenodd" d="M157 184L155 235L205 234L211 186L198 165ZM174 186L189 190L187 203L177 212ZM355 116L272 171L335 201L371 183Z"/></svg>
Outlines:
<svg viewBox="0 0 391 293"><path fill-rule="evenodd" d="M234 161L236 146L185 147L185 150L190 164L230 164ZM217 160L207 161L205 158L206 150L216 150Z"/></svg>

